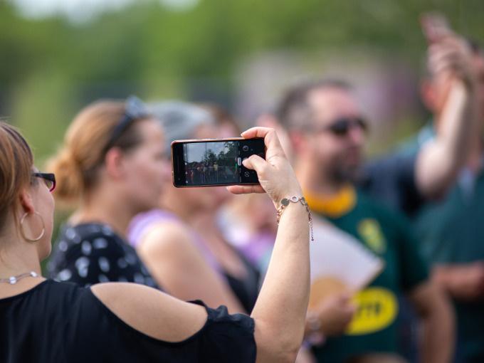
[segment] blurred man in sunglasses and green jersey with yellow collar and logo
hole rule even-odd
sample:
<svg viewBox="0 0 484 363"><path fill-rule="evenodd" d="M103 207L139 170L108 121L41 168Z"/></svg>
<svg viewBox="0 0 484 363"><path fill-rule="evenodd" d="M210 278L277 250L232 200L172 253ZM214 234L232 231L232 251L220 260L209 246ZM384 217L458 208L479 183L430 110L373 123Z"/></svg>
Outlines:
<svg viewBox="0 0 484 363"><path fill-rule="evenodd" d="M450 362L450 305L428 282L409 224L356 187L367 122L349 85L334 80L299 85L283 98L278 119L288 132L298 179L312 211L385 261L382 273L357 293L356 312L346 330L314 347L318 362L401 362L396 318L402 293L423 322L423 361Z"/></svg>

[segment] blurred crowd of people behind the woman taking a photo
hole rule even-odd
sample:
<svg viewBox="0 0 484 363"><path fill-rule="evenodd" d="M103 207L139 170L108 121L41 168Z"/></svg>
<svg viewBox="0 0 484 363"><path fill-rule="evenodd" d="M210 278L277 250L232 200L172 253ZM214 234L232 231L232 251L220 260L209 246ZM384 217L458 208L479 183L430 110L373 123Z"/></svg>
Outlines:
<svg viewBox="0 0 484 363"><path fill-rule="evenodd" d="M382 261L357 289L338 276L312 279L320 298L297 362L484 362L484 53L443 19L422 25L421 101L432 116L389 154L364 158L370 123L352 84L331 75L294 84L256 120L275 129L322 227L311 243L337 231ZM70 211L48 276L139 283L250 314L278 235L273 201L175 188L170 164L174 140L241 131L219 105L185 100L80 110L45 167Z"/></svg>

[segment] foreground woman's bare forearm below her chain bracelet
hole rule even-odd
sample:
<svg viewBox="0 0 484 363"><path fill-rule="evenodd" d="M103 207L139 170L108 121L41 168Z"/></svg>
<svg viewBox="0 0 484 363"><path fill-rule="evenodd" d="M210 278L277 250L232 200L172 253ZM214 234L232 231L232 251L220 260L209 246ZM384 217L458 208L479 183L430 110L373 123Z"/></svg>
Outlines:
<svg viewBox="0 0 484 363"><path fill-rule="evenodd" d="M299 203L290 203L283 212L268 272L252 312L256 332L259 326L261 335L268 335L267 344L278 346L282 357L296 354L304 335L310 273L307 222L307 211Z"/></svg>

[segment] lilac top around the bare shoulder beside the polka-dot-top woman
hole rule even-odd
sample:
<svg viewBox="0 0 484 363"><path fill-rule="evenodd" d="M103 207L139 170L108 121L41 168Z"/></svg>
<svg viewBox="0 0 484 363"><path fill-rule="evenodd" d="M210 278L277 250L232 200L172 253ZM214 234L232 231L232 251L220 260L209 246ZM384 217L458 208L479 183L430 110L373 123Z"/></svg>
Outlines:
<svg viewBox="0 0 484 363"><path fill-rule="evenodd" d="M132 219L127 231L127 239L130 242L130 245L134 248L137 248L137 246L140 245L140 242L142 241L144 235L147 233L147 231L149 231L149 228L152 228L155 223L164 221L183 223L178 216L162 209L152 209L151 211L140 213L135 216L135 218ZM204 241L201 239L201 236L199 236L189 226L186 226L186 228L190 229L191 235L193 236L194 245L204 256L205 261L209 263L211 268L214 268L217 273L223 275L219 263L216 261L214 255L205 246Z"/></svg>

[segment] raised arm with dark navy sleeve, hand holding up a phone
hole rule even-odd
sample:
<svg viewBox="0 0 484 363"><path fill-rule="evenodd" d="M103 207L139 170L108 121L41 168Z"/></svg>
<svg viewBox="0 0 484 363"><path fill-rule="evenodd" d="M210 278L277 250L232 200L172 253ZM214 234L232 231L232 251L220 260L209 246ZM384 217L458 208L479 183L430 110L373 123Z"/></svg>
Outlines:
<svg viewBox="0 0 484 363"><path fill-rule="evenodd" d="M370 160L358 178L368 194L411 219L455 185L478 134L482 103L478 49L441 18L423 16L422 25L428 53L421 99L438 127L424 127L394 152Z"/></svg>

